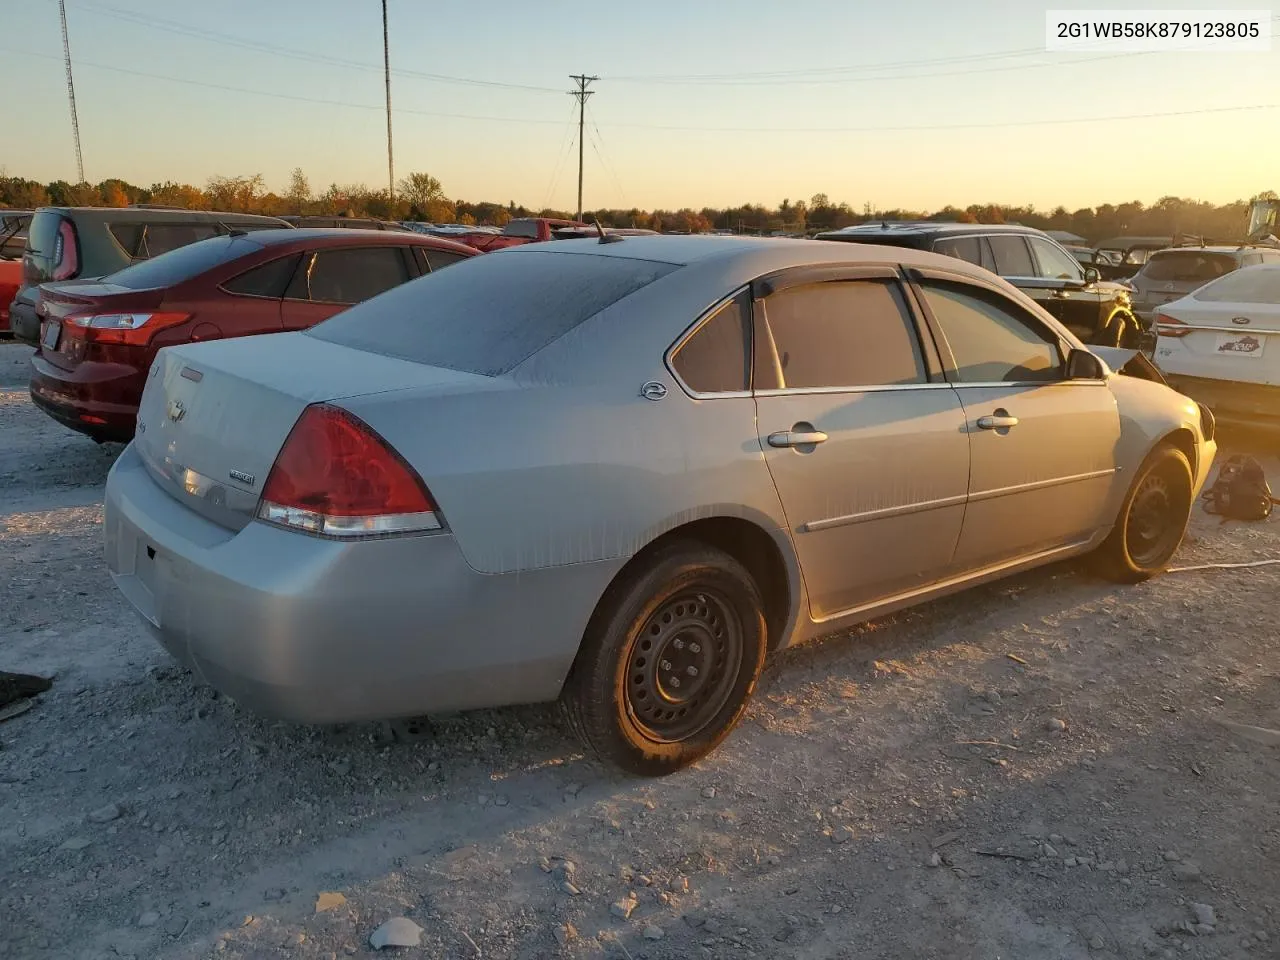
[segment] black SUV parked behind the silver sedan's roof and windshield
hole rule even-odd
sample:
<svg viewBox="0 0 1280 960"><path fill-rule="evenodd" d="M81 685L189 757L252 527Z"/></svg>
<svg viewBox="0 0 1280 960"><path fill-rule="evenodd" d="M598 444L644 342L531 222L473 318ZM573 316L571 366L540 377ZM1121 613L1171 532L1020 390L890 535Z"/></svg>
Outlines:
<svg viewBox="0 0 1280 960"><path fill-rule="evenodd" d="M1030 227L881 221L819 233L817 239L932 250L1000 274L1085 343L1137 347L1142 328L1129 291L1098 279L1060 243Z"/></svg>

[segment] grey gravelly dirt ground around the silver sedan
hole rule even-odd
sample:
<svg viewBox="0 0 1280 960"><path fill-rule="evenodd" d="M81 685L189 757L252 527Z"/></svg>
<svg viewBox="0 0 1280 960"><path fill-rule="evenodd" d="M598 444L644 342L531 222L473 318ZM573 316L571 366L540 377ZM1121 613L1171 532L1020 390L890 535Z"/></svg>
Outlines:
<svg viewBox="0 0 1280 960"><path fill-rule="evenodd" d="M832 636L662 781L548 708L296 727L116 595L119 448L36 411L27 356L0 346L0 668L55 682L0 723L0 957L371 956L398 916L421 957L1280 956L1280 753L1228 726L1280 728L1280 567L1055 566ZM1280 520L1197 512L1178 563L1267 557Z"/></svg>

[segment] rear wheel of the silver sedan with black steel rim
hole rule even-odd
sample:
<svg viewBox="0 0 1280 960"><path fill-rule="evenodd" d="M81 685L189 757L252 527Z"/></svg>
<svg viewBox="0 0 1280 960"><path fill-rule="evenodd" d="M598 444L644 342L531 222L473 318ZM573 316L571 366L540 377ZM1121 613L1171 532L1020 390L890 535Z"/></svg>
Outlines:
<svg viewBox="0 0 1280 960"><path fill-rule="evenodd" d="M733 730L767 645L746 568L705 544L672 543L605 593L561 709L600 759L641 776L673 773Z"/></svg>

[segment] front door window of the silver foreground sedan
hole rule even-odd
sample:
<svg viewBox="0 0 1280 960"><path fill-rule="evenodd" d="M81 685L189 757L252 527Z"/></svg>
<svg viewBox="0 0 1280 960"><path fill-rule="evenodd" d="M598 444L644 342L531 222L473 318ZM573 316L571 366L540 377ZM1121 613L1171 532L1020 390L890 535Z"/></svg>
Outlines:
<svg viewBox="0 0 1280 960"><path fill-rule="evenodd" d="M923 291L951 347L960 383L1062 378L1056 339L1015 303L966 284L929 280Z"/></svg>

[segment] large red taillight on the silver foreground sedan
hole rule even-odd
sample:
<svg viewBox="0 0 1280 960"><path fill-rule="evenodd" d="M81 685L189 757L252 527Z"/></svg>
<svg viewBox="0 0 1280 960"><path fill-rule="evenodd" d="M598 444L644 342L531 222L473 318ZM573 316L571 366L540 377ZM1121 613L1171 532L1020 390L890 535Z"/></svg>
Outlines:
<svg viewBox="0 0 1280 960"><path fill-rule="evenodd" d="M257 516L325 536L439 530L422 479L358 417L326 403L302 411L262 486Z"/></svg>

